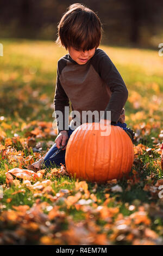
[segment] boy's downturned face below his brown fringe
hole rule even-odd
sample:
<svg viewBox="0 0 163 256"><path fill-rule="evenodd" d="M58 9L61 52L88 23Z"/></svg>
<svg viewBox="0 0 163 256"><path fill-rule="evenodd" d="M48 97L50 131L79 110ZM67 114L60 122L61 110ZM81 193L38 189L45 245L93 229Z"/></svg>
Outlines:
<svg viewBox="0 0 163 256"><path fill-rule="evenodd" d="M79 65L83 65L87 61L89 61L89 59L92 58L93 55L95 54L95 50L96 50L96 48L93 48L89 51L83 51L83 50L74 49L72 46L68 47L67 49L71 58L74 61L76 61Z"/></svg>

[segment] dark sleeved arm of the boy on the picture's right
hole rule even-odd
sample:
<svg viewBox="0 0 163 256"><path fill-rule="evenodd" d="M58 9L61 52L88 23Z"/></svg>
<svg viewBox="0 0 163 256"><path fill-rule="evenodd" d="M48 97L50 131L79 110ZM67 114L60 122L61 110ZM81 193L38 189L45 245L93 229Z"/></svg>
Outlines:
<svg viewBox="0 0 163 256"><path fill-rule="evenodd" d="M128 90L122 76L105 52L99 62L99 73L112 92L102 118L106 119L106 111L111 110L111 122L117 123L127 101Z"/></svg>

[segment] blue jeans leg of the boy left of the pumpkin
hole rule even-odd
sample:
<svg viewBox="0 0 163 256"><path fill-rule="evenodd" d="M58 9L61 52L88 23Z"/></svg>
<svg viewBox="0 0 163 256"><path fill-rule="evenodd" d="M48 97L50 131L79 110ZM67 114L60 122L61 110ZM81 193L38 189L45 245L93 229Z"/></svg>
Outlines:
<svg viewBox="0 0 163 256"><path fill-rule="evenodd" d="M70 129L69 126L69 130L68 130L68 139L70 139L70 135L72 134L73 130ZM57 156L49 159L52 154L55 153L55 151L58 150L58 147L56 146L56 143L49 149L49 151L47 152L46 156L44 157L44 164L46 166L46 168L57 168L58 166L60 167L60 163L65 165L65 153L66 150L61 150ZM66 165L65 165L66 166Z"/></svg>

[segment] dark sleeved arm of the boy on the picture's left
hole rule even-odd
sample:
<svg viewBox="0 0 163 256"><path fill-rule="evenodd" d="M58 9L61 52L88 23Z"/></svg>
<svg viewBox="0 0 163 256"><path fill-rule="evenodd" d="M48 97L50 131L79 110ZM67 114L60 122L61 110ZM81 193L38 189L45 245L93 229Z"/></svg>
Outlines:
<svg viewBox="0 0 163 256"><path fill-rule="evenodd" d="M68 125L69 125L69 109L68 114L65 115L65 106L69 107L69 99L67 94L64 91L64 88L61 86L60 79L59 79L59 70L57 67L57 80L56 80L56 87L55 87L55 96L54 96L54 111L55 111L55 118L61 121L57 122L58 134L61 130L67 130L68 132ZM61 111L62 115L58 116L57 111ZM63 117L63 119L62 119ZM65 120L66 117L66 120Z"/></svg>

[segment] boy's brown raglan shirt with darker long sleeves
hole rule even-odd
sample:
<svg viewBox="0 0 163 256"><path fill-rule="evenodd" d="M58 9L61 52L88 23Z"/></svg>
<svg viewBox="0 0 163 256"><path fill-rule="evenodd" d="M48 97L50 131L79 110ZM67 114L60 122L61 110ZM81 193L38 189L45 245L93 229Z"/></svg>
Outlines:
<svg viewBox="0 0 163 256"><path fill-rule="evenodd" d="M65 115L65 106L72 106L76 115L70 122L70 128L80 126L87 120L82 119L82 111L111 111L111 121L125 121L124 105L128 98L128 90L122 76L109 56L97 48L95 54L85 64L78 64L70 54L61 57L57 64L57 80L54 95L54 111L61 111L63 122L58 122L58 133L68 130L69 117ZM74 121L75 120L75 121ZM100 120L100 119L99 119ZM99 122L98 120L98 122ZM94 120L95 121L95 120ZM97 120L96 120L97 121Z"/></svg>

